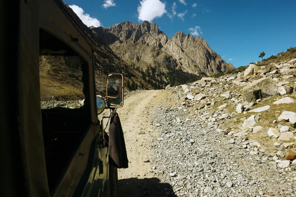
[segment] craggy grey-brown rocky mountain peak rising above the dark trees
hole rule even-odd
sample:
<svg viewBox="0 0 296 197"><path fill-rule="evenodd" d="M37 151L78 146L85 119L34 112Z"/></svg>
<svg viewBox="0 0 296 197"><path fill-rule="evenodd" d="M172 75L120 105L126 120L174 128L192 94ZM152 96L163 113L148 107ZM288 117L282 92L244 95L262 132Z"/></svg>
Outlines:
<svg viewBox="0 0 296 197"><path fill-rule="evenodd" d="M197 75L212 75L233 69L201 37L177 32L172 38L155 23L129 21L109 28L91 28L102 42L128 64L143 70L152 66L162 71L182 68Z"/></svg>

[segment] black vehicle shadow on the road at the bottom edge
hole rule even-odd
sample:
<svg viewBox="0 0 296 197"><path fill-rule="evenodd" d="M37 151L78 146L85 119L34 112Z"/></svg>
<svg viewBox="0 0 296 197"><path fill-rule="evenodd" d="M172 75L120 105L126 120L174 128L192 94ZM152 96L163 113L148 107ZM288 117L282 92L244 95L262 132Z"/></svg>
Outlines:
<svg viewBox="0 0 296 197"><path fill-rule="evenodd" d="M177 197L169 183L158 178L118 180L117 197Z"/></svg>

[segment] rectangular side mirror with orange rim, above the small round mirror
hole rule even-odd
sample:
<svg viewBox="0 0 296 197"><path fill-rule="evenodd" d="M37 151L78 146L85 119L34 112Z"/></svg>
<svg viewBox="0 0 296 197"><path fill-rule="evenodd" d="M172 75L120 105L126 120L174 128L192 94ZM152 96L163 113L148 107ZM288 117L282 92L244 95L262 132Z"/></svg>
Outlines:
<svg viewBox="0 0 296 197"><path fill-rule="evenodd" d="M123 75L120 73L110 73L106 83L107 105L112 108L123 106Z"/></svg>

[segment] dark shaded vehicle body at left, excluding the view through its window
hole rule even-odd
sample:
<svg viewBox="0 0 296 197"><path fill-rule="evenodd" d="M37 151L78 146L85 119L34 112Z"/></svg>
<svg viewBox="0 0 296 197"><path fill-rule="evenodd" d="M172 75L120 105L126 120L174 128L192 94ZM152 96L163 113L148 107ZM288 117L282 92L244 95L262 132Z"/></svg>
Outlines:
<svg viewBox="0 0 296 197"><path fill-rule="evenodd" d="M61 0L2 1L0 9L0 196L114 196L89 29ZM84 105L41 110L39 55L61 54L84 61Z"/></svg>

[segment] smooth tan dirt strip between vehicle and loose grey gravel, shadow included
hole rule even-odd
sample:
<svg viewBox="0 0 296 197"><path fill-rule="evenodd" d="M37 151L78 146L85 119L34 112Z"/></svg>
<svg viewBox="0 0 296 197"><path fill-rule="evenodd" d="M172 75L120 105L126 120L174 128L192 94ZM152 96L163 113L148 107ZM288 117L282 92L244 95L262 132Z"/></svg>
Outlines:
<svg viewBox="0 0 296 197"><path fill-rule="evenodd" d="M149 114L166 98L167 91L149 90L135 94L124 101L118 110L124 131L129 167L118 169L118 197L165 196L169 184L160 183L152 165L145 160L153 158L150 143L158 136Z"/></svg>

